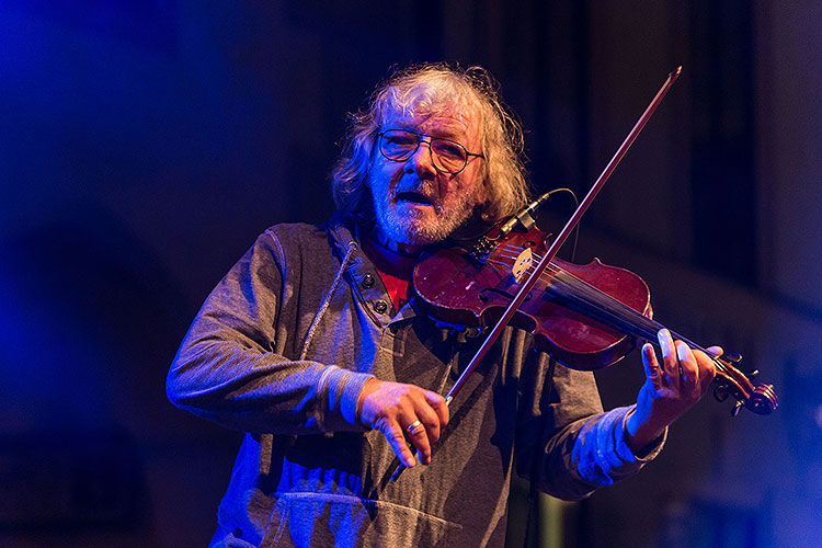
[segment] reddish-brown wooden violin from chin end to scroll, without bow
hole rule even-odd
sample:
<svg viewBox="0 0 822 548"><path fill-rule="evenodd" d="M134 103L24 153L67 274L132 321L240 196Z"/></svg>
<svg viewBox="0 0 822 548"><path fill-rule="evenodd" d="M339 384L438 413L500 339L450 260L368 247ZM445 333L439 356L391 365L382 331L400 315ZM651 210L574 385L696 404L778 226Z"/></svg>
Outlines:
<svg viewBox="0 0 822 548"><path fill-rule="evenodd" d="M507 235L496 227L475 241L423 253L414 266L414 289L434 318L484 331L514 299L535 259L545 255L548 239L536 227ZM644 281L598 259L586 265L550 261L507 324L532 332L537 350L583 370L616 364L640 341L655 344L664 328L652 319ZM673 331L672 336L711 356L685 336ZM776 409L774 387L754 386L755 373L749 376L737 368L739 354L711 358L715 397L732 397L734 415L742 408L757 414Z"/></svg>

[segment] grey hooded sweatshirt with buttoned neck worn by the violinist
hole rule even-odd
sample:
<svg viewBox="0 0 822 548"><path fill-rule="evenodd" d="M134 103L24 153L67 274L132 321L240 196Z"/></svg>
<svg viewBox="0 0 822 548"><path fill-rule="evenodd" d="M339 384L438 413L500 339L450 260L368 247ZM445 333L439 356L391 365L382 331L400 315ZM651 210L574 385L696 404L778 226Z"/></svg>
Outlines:
<svg viewBox="0 0 822 548"><path fill-rule="evenodd" d="M593 375L506 328L450 402L432 463L398 460L356 420L370 377L445 393L479 347L419 298L393 310L354 229L277 225L206 299L174 358L171 401L246 432L217 547L501 547L515 470L566 500L636 473L631 408L602 411ZM544 390L551 386L551 390Z"/></svg>

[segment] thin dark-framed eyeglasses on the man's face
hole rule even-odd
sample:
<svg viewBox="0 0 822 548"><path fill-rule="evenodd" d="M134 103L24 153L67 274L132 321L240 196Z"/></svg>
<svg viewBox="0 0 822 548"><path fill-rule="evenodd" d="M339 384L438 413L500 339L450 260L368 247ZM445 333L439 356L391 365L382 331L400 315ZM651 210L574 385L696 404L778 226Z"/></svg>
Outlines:
<svg viewBox="0 0 822 548"><path fill-rule="evenodd" d="M395 162L408 160L416 152L421 142L427 142L431 163L442 173L459 173L465 169L468 164L468 159L472 156L486 158L482 155L469 152L457 141L431 137L408 129L386 129L378 134L378 136L379 151L383 156ZM429 140L423 140L423 137L429 137Z"/></svg>

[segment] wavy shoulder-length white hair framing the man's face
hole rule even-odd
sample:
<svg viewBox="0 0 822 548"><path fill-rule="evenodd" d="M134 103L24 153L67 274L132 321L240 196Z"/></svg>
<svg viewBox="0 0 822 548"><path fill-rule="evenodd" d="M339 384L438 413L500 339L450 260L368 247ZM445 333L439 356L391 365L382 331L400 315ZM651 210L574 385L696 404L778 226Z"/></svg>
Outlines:
<svg viewBox="0 0 822 548"><path fill-rule="evenodd" d="M480 152L484 156L480 176L488 197L483 219L496 222L522 208L530 196L522 160L523 130L496 90L495 80L481 67L426 64L395 72L363 110L350 115L343 150L331 172L338 209L361 222L374 219L368 170L377 134L389 116L424 115L453 107L480 115Z"/></svg>

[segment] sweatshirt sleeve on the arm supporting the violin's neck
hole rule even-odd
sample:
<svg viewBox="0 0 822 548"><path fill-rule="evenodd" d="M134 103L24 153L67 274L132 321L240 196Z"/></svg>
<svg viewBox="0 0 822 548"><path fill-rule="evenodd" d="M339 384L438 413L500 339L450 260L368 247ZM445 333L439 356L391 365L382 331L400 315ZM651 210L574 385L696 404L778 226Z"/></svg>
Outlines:
<svg viewBox="0 0 822 548"><path fill-rule="evenodd" d="M548 403L535 410L521 434L528 439L518 473L536 480L540 491L581 500L633 476L662 450L667 432L640 456L628 448L625 421L633 406L603 411L593 374L557 364L553 377Z"/></svg>

